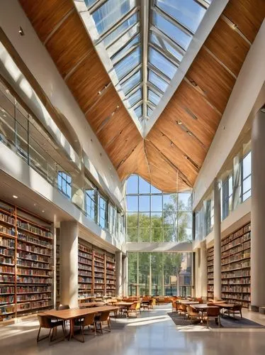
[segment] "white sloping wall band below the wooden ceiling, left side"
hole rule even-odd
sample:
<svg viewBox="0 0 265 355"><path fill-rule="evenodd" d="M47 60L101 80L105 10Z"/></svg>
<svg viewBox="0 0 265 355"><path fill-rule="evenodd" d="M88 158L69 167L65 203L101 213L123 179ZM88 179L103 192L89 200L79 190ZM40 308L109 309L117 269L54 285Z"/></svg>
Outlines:
<svg viewBox="0 0 265 355"><path fill-rule="evenodd" d="M45 2L43 3L45 6ZM18 0L0 1L0 23L12 45L42 87L51 104L69 121L89 157L89 170L114 200L123 201L122 186L111 160L103 150L52 58L40 42ZM18 33L23 28L25 35Z"/></svg>

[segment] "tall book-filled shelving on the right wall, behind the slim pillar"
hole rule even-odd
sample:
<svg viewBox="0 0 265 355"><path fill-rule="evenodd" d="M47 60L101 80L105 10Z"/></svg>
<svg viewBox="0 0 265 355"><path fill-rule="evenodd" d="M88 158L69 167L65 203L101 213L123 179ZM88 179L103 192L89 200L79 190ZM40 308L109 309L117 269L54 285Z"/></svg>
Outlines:
<svg viewBox="0 0 265 355"><path fill-rule="evenodd" d="M249 307L250 240L247 224L221 241L222 300ZM208 298L213 298L213 247L208 249Z"/></svg>

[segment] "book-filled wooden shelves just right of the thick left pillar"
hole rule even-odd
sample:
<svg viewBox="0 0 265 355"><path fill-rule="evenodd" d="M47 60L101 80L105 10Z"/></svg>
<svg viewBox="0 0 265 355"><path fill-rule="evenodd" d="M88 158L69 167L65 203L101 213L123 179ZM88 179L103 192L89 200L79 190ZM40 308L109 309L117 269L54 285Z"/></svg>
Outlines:
<svg viewBox="0 0 265 355"><path fill-rule="evenodd" d="M79 300L115 295L115 258L79 238Z"/></svg>

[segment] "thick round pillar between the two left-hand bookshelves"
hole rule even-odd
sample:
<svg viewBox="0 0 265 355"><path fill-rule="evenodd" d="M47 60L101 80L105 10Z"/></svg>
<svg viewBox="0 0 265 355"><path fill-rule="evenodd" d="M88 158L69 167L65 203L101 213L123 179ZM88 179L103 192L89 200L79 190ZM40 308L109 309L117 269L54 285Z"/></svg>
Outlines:
<svg viewBox="0 0 265 355"><path fill-rule="evenodd" d="M78 225L60 224L60 303L78 307Z"/></svg>

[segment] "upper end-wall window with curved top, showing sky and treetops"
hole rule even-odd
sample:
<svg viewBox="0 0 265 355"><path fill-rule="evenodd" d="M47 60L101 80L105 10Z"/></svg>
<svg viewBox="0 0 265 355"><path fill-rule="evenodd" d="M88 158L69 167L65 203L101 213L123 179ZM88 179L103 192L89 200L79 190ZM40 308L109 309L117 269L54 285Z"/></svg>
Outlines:
<svg viewBox="0 0 265 355"><path fill-rule="evenodd" d="M191 241L190 192L167 194L131 175L126 193L128 241Z"/></svg>

